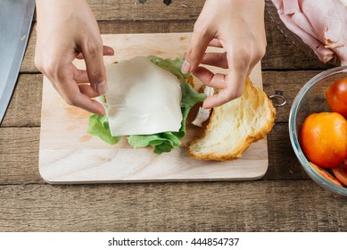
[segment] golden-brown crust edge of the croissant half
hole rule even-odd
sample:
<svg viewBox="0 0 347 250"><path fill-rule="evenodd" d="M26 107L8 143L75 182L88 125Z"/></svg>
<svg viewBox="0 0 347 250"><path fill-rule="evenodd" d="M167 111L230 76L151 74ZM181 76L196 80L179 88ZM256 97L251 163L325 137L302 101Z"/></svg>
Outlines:
<svg viewBox="0 0 347 250"><path fill-rule="evenodd" d="M248 93L245 93L247 92ZM250 94L251 93L251 94ZM275 124L276 119L276 110L272 104L272 102L269 100L268 96L260 89L253 87L251 79L247 78L245 82L244 87L244 94L250 94L255 96L260 96L260 98L263 98L264 102L262 103L262 106L265 108L267 112L267 117L269 117L269 121L266 121L260 128L257 128L257 131L254 134L247 134L247 136L244 138L244 143L239 146L235 146L234 148L227 148L227 153L220 154L220 152L216 152L211 150L211 152L199 152L196 150L197 145L202 142L202 140L208 136L208 134L211 131L211 124L216 117L216 109L213 109L211 112L211 118L209 121L209 124L207 124L206 128L203 130L202 134L194 138L194 140L190 141L186 145L186 153L198 160L215 160L215 161L230 161L235 160L236 158L239 158L242 156L244 151L251 146L253 142L256 142L264 137L266 137L270 130L273 128ZM240 97L241 98L241 97ZM247 108L247 106L246 106ZM251 126L251 125L250 125ZM216 129L216 128L214 128ZM217 128L218 129L218 128ZM230 131L230 133L237 133L237 131Z"/></svg>

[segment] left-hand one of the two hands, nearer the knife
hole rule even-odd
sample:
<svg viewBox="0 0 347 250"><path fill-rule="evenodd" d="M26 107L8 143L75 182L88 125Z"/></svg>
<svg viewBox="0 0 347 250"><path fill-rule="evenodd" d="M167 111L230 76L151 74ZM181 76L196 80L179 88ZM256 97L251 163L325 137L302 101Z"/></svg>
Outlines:
<svg viewBox="0 0 347 250"><path fill-rule="evenodd" d="M112 54L85 0L37 0L35 64L68 104L104 114L91 98L107 90L103 55ZM72 64L75 58L86 61L87 71Z"/></svg>

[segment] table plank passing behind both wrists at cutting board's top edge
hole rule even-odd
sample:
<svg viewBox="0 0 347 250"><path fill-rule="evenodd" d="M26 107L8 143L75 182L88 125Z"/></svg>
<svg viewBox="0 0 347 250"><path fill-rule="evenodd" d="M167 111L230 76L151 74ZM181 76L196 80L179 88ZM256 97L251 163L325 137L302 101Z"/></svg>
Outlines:
<svg viewBox="0 0 347 250"><path fill-rule="evenodd" d="M261 67L263 71L269 70L324 70L332 65L318 62L315 56L302 52L294 46L269 20L266 15L268 47ZM192 32L194 21L99 21L102 34L123 33L168 33L168 32ZM36 23L29 37L29 44L21 72L38 72L34 64L36 43Z"/></svg>

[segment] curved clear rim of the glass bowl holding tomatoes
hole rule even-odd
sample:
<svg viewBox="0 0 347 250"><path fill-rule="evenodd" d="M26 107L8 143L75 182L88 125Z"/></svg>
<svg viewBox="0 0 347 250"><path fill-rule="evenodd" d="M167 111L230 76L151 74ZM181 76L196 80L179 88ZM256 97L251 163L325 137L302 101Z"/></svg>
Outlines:
<svg viewBox="0 0 347 250"><path fill-rule="evenodd" d="M305 83L305 85L302 87L299 93L295 96L291 110L289 112L289 137L291 140L291 144L293 146L294 153L298 157L299 162L301 162L304 171L307 172L310 178L316 181L318 185L320 185L321 187L325 187L329 189L330 191L335 192L336 194L347 196L347 187L339 187L335 185L334 183L322 177L317 171L315 171L310 166L310 162L306 159L306 156L302 153L302 148L300 146L299 138L296 136L297 135L296 118L302 103L302 98L306 96L307 92L310 90L311 87L318 84L322 79L326 79L327 77L330 77L342 72L347 72L347 66L339 66L339 67L335 67L335 68L320 72L318 75L316 75L315 77L313 77L312 79L310 79L308 82Z"/></svg>

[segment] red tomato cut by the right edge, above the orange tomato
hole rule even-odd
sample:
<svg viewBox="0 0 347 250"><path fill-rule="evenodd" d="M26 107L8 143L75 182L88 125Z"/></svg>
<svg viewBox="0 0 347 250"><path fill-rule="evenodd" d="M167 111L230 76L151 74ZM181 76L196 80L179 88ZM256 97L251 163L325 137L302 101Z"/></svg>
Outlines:
<svg viewBox="0 0 347 250"><path fill-rule="evenodd" d="M347 118L347 78L336 80L326 89L326 103L333 112Z"/></svg>

